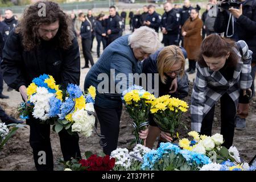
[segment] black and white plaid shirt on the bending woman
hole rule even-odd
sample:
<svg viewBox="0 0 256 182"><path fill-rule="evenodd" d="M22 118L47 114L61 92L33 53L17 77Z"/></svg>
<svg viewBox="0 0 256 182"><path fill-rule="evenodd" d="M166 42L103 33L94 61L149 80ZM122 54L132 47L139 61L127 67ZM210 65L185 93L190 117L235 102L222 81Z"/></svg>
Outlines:
<svg viewBox="0 0 256 182"><path fill-rule="evenodd" d="M191 128L192 131L201 131L204 116L224 93L228 93L236 107L240 96L240 89L251 87L251 54L247 44L240 40L237 42L240 51L234 51L240 57L240 61L234 70L233 78L227 81L219 71L211 71L208 67L202 67L196 63L196 78L191 96Z"/></svg>

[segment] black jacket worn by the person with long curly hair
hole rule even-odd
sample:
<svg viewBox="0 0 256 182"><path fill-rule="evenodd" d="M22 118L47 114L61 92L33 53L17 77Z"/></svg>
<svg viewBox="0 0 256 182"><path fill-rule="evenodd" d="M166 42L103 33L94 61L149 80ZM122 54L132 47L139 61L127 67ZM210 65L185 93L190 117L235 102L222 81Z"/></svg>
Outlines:
<svg viewBox="0 0 256 182"><path fill-rule="evenodd" d="M12 30L3 48L1 64L6 84L18 91L20 86L28 86L35 77L46 73L64 87L69 83L79 85L80 53L77 39L74 37L72 46L65 50L56 46L56 40L56 37L50 41L42 40L40 46L25 51L22 37Z"/></svg>

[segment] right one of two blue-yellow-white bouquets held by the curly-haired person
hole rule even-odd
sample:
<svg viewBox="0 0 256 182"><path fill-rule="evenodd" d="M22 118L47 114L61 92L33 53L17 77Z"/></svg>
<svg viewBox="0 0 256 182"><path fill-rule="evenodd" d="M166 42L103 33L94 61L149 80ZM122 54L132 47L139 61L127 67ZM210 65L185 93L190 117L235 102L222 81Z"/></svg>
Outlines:
<svg viewBox="0 0 256 182"><path fill-rule="evenodd" d="M92 134L95 122L94 99L96 88L90 86L86 93L79 86L69 84L67 97L60 106L59 119L55 123L55 131L65 129L69 134L79 132L85 137Z"/></svg>

